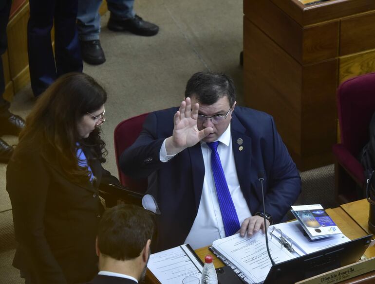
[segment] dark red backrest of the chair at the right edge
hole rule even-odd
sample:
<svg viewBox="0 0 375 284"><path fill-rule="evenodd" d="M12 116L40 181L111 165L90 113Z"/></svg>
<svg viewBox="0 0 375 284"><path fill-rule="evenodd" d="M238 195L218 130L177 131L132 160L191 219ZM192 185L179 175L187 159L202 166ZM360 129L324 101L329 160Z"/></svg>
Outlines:
<svg viewBox="0 0 375 284"><path fill-rule="evenodd" d="M343 82L337 98L341 143L356 157L370 139L369 125L375 112L375 72Z"/></svg>

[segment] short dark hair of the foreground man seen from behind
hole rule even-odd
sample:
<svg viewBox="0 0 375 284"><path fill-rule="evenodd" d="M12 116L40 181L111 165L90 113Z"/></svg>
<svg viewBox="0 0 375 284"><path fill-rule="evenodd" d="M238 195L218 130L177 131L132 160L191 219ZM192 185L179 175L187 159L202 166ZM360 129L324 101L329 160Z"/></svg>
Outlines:
<svg viewBox="0 0 375 284"><path fill-rule="evenodd" d="M145 209L121 204L108 209L99 223L100 253L116 260L137 258L152 238L154 222Z"/></svg>

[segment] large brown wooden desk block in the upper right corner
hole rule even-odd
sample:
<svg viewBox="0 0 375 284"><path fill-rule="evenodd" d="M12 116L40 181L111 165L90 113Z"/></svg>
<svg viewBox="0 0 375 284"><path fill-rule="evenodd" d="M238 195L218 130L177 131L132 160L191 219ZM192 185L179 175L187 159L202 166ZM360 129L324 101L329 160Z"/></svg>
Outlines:
<svg viewBox="0 0 375 284"><path fill-rule="evenodd" d="M244 99L303 171L333 162L336 89L375 71L375 1L244 0Z"/></svg>

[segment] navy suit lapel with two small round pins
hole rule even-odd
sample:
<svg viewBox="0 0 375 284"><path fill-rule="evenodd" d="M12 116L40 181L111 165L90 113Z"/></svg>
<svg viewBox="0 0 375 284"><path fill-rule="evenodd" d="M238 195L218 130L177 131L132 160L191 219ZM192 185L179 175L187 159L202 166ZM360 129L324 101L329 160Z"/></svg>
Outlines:
<svg viewBox="0 0 375 284"><path fill-rule="evenodd" d="M254 164L255 160L252 159L251 137L248 135L246 128L238 120L235 113L232 114L230 127L237 177L247 205L252 212L253 207L255 207L254 205L252 206L252 204L258 203L255 202L254 197L256 197L259 202L262 202L262 193L257 190L258 186L253 182L257 180L258 173L252 170L256 169L257 166Z"/></svg>

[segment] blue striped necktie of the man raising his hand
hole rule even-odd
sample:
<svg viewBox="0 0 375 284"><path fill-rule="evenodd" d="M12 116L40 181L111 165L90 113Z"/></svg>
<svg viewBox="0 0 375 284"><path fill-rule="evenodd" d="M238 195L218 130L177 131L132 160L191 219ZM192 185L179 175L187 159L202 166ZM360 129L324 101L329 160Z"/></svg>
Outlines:
<svg viewBox="0 0 375 284"><path fill-rule="evenodd" d="M216 193L219 199L220 211L222 213L225 236L231 236L240 230L240 221L238 220L236 208L234 207L232 197L229 193L228 184L226 183L224 170L220 161L217 146L219 141L207 143L211 148L211 168L215 181Z"/></svg>

